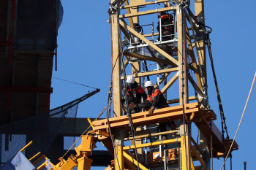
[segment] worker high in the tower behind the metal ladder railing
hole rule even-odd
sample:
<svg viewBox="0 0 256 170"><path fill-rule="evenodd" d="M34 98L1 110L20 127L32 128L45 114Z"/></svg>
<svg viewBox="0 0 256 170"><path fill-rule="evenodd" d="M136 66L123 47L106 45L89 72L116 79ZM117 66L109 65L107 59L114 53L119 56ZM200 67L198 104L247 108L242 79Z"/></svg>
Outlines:
<svg viewBox="0 0 256 170"><path fill-rule="evenodd" d="M161 18L162 41L164 42L164 41L173 39L173 35L172 35L174 34L173 15L167 14L167 12L161 12L159 15L159 18ZM159 24L160 23L158 21L157 31L159 31L159 27L160 27ZM160 38L158 40L160 40Z"/></svg>

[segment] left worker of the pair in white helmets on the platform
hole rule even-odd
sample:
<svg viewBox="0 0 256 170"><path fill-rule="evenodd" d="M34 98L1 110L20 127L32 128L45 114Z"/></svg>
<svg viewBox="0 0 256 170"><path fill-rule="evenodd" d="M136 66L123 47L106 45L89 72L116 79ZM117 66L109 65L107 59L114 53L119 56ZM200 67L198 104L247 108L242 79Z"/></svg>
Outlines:
<svg viewBox="0 0 256 170"><path fill-rule="evenodd" d="M138 82L135 81L135 77L127 77L127 99L131 113L140 112L140 108L137 106L141 103L141 98L143 98L143 101L146 101L147 95L145 90L138 85Z"/></svg>

